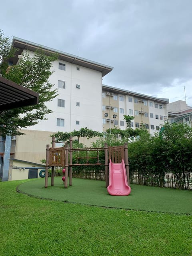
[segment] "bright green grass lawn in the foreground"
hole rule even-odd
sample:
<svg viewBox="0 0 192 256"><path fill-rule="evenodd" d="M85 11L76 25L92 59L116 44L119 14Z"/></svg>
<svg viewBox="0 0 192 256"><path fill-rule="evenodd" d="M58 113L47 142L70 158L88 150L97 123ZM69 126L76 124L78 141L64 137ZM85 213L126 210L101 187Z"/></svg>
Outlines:
<svg viewBox="0 0 192 256"><path fill-rule="evenodd" d="M0 256L192 255L192 215L42 200L22 182L0 182Z"/></svg>

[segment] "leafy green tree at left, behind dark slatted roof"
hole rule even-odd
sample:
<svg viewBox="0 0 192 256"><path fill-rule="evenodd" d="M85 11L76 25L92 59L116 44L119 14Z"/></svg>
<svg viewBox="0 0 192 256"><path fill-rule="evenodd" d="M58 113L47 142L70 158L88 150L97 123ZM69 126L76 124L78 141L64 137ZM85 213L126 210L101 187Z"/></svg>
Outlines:
<svg viewBox="0 0 192 256"><path fill-rule="evenodd" d="M0 49L3 49L0 51L2 58L0 63L1 76L39 94L37 105L0 112L1 136L20 135L23 133L19 129L38 124L40 120L47 120L46 115L52 112L46 106L46 102L58 95L57 89L53 89L54 84L49 82L53 73L50 68L52 67L52 61L57 59L57 54L47 56L41 48L34 53L34 56L30 56L26 52L18 65L10 66L9 72L6 72L8 58L14 56L16 50L11 48L10 39L4 36L2 32L0 32Z"/></svg>

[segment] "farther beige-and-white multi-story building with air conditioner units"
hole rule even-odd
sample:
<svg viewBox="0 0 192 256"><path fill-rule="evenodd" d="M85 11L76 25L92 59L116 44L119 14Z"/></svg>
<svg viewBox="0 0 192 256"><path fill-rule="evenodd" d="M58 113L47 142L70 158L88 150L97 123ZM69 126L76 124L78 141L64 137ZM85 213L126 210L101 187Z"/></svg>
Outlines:
<svg viewBox="0 0 192 256"><path fill-rule="evenodd" d="M133 129L144 125L150 134L158 132L167 120L166 98L122 90L103 85L103 131L110 128L126 129L124 115L134 116Z"/></svg>

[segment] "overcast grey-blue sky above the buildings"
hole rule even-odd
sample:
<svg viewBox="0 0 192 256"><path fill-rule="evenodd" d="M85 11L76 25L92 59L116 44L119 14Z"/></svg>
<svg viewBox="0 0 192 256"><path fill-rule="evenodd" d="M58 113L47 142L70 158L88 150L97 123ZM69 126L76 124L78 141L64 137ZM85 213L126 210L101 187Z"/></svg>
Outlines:
<svg viewBox="0 0 192 256"><path fill-rule="evenodd" d="M103 84L192 106L191 0L9 0L0 30L114 67Z"/></svg>

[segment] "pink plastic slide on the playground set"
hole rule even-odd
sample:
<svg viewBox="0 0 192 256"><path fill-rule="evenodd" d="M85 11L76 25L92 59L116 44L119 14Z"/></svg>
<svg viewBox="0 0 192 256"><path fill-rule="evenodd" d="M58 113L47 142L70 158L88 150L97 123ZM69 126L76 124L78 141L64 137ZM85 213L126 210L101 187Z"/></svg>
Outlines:
<svg viewBox="0 0 192 256"><path fill-rule="evenodd" d="M112 196L128 196L131 192L127 184L124 160L119 164L109 163L109 186L107 191Z"/></svg>

